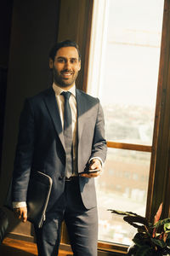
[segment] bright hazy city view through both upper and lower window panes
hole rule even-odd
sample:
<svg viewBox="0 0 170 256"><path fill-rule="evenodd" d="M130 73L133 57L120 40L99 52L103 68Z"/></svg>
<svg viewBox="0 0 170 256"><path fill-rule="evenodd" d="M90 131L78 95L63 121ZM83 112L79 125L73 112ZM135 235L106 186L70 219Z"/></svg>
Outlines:
<svg viewBox="0 0 170 256"><path fill-rule="evenodd" d="M95 66L91 58L89 72L92 76L98 74L98 82L92 86L104 108L106 138L118 143L151 145L164 1L105 3L105 38L101 37L96 53L100 55L100 66ZM95 44L97 49L99 42ZM88 83L88 92L93 95L90 80ZM108 148L105 170L96 179L100 241L131 243L136 230L107 210L132 211L144 216L149 172L150 153Z"/></svg>

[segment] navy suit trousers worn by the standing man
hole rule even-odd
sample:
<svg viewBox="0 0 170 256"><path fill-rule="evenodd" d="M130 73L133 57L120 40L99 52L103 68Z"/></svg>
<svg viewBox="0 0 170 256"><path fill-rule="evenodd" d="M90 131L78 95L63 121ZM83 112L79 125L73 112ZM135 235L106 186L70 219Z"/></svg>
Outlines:
<svg viewBox="0 0 170 256"><path fill-rule="evenodd" d="M97 256L97 207L87 210L83 206L78 177L65 182L65 191L54 208L47 212L42 228L35 227L38 256L58 255L63 220L74 255Z"/></svg>

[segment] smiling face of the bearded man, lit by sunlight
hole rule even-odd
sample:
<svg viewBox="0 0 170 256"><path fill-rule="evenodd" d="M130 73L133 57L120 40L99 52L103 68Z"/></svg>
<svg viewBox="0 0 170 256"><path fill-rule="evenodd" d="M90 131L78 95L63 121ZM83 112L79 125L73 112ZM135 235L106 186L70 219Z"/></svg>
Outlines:
<svg viewBox="0 0 170 256"><path fill-rule="evenodd" d="M61 88L70 89L81 69L77 49L70 46L58 49L54 61L49 60L49 67L53 68L54 83Z"/></svg>

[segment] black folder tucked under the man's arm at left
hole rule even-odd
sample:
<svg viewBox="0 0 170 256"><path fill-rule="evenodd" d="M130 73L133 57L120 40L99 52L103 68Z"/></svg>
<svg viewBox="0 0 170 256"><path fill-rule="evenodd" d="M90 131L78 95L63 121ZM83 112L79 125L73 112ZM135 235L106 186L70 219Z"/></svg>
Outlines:
<svg viewBox="0 0 170 256"><path fill-rule="evenodd" d="M43 172L34 172L30 178L26 199L27 219L38 228L42 227L42 223L45 220L52 183L52 178ZM10 184L4 204L10 210L13 209L11 189L12 185Z"/></svg>

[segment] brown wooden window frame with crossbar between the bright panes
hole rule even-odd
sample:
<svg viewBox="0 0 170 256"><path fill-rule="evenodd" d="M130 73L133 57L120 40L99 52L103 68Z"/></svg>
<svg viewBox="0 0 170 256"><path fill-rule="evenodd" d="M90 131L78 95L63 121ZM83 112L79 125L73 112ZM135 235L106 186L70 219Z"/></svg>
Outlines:
<svg viewBox="0 0 170 256"><path fill-rule="evenodd" d="M94 1L93 1L94 2ZM93 4L94 6L94 4ZM93 13L93 12L92 12ZM91 27L89 27L91 31ZM151 153L150 177L148 184L148 195L146 201L146 218L152 220L157 208L163 201L161 218L170 216L170 204L168 203L168 193L170 192L170 1L164 0L162 32L161 32L161 55L158 72L156 111L153 141L151 146L117 143L107 141L108 148L121 148L127 150L143 151ZM89 42L88 42L89 45ZM88 69L89 47L86 49L85 67ZM87 91L87 77L84 78L83 90ZM160 183L163 184L160 186ZM99 249L108 252L126 253L127 246L110 242L98 242Z"/></svg>

